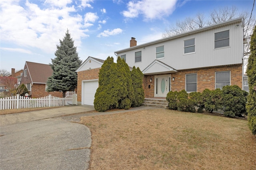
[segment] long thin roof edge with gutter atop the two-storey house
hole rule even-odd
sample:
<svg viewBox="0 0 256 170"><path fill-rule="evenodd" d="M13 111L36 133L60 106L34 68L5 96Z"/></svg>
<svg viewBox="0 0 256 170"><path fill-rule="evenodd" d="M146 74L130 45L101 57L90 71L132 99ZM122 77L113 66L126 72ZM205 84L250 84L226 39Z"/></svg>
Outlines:
<svg viewBox="0 0 256 170"><path fill-rule="evenodd" d="M158 39L156 41L151 41L151 42L144 43L144 44L141 44L141 45L136 45L134 47L130 47L130 48L127 48L127 49L114 51L114 53L117 53L117 54L118 53L123 53L123 52L126 52L126 51L130 51L132 49L138 49L138 48L146 47L148 45L153 45L153 44L156 44L156 43L162 43L162 42L165 42L165 41L170 41L172 39L176 39L176 38L179 38L179 37L184 37L184 36L191 35L191 34L194 34L194 33L199 33L199 32L202 32L202 31L218 28L218 27L221 27L221 26L224 26L224 25L230 25L230 24L233 24L233 23L239 23L239 22L242 22L242 27L243 27L244 18L240 17L240 18L236 18L234 20L229 20L229 21L225 21L225 22L222 22L222 23L209 25L207 27L202 27L202 28L199 28L199 29L195 29L195 30L192 30L192 31L185 32L185 33L180 33L180 34L173 35L173 36L170 36L170 37Z"/></svg>

